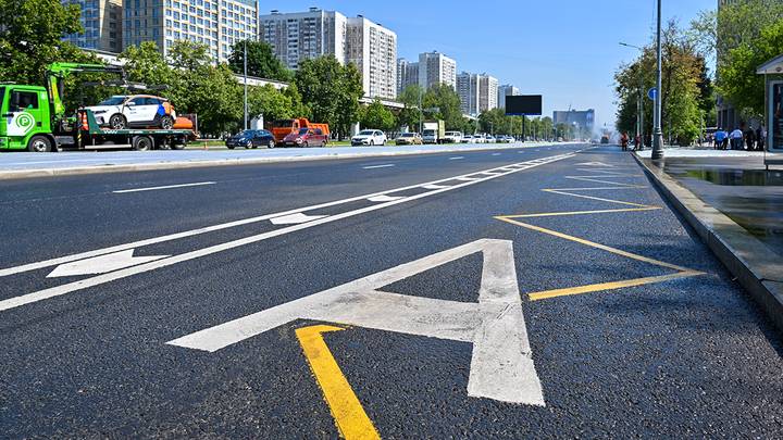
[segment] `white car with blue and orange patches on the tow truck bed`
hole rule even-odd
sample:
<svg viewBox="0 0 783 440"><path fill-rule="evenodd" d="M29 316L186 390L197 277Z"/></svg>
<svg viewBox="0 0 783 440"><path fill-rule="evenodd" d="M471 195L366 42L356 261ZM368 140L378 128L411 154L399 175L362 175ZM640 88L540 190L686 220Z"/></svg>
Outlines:
<svg viewBox="0 0 783 440"><path fill-rule="evenodd" d="M151 95L117 95L88 106L98 125L120 130L129 127L172 129L176 112L167 99Z"/></svg>

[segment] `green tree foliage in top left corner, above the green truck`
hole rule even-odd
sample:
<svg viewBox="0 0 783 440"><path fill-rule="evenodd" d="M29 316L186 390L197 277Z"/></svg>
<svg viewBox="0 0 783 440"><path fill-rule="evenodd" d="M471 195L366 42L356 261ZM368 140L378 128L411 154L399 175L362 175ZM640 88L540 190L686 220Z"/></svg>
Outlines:
<svg viewBox="0 0 783 440"><path fill-rule="evenodd" d="M95 62L62 41L83 32L79 8L60 0L0 0L0 80L42 84L53 62Z"/></svg>

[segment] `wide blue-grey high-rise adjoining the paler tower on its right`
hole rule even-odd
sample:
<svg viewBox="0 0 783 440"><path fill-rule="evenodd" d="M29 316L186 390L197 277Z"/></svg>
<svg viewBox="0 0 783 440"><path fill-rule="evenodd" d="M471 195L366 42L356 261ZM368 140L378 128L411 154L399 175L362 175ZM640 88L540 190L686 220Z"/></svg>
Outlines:
<svg viewBox="0 0 783 440"><path fill-rule="evenodd" d="M273 10L259 17L261 40L272 46L288 68L327 54L345 64L348 18L339 12L310 8L307 12L281 13Z"/></svg>

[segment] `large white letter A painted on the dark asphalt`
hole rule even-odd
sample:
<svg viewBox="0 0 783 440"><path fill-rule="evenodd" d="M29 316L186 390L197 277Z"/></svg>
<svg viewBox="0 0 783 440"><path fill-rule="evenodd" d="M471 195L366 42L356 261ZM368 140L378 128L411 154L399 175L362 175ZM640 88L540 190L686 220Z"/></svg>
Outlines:
<svg viewBox="0 0 783 440"><path fill-rule="evenodd" d="M483 253L478 302L384 292L385 286ZM533 364L513 243L478 240L169 341L215 352L296 319L473 343L468 395L545 406Z"/></svg>

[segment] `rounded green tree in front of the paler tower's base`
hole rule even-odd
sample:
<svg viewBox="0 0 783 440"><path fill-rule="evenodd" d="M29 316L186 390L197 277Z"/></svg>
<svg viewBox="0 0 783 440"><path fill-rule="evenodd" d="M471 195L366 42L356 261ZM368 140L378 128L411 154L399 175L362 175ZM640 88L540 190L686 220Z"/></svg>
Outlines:
<svg viewBox="0 0 783 440"><path fill-rule="evenodd" d="M306 60L295 83L312 120L330 124L338 136L347 135L351 124L359 121L359 99L364 90L353 64L344 66L333 55Z"/></svg>

